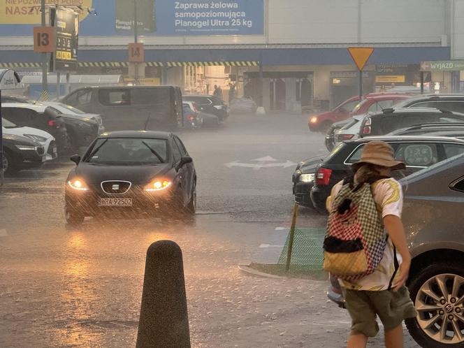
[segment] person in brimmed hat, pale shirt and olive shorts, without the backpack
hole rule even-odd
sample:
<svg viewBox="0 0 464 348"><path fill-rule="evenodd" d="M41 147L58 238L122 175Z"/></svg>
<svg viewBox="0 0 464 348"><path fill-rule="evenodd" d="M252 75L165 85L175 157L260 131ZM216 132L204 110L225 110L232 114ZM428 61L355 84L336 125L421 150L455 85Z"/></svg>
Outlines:
<svg viewBox="0 0 464 348"><path fill-rule="evenodd" d="M405 164L394 159L393 148L383 141L366 144L361 159L352 165L353 176L336 184L327 198L327 208L333 210L335 197L346 182L351 185L369 183L379 219L388 235L382 260L373 273L357 280L339 279L345 304L351 317L348 348L366 347L368 338L379 332L376 317L382 321L387 348L403 347L403 320L414 318L417 312L405 287L411 265L411 255L401 222L403 191L391 171L404 169Z"/></svg>

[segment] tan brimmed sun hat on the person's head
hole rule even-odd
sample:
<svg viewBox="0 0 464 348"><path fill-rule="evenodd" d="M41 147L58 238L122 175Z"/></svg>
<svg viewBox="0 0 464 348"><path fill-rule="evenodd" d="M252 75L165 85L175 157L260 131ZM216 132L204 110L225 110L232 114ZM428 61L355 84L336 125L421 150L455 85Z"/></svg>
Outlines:
<svg viewBox="0 0 464 348"><path fill-rule="evenodd" d="M364 146L361 154L361 159L353 164L353 167L359 168L363 164L375 164L390 168L392 171L396 169L405 169L406 166L402 161L396 161L394 157L393 147L384 141L374 140Z"/></svg>

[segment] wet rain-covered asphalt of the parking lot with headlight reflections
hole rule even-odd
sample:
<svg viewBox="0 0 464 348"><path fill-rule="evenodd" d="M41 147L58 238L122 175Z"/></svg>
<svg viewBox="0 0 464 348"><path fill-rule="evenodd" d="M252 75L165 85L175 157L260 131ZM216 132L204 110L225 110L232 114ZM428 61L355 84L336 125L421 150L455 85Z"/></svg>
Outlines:
<svg viewBox="0 0 464 348"><path fill-rule="evenodd" d="M303 115L231 115L218 128L181 131L198 175L191 222L64 222L59 159L6 178L0 189L0 347L133 347L145 252L182 248L193 347L342 347L349 317L326 282L251 277L237 269L276 227L288 226L291 174L326 154ZM272 157L272 158L271 158ZM161 217L162 218L162 217ZM300 226L324 226L302 210ZM381 338L371 347L381 347ZM417 347L407 338L406 347Z"/></svg>

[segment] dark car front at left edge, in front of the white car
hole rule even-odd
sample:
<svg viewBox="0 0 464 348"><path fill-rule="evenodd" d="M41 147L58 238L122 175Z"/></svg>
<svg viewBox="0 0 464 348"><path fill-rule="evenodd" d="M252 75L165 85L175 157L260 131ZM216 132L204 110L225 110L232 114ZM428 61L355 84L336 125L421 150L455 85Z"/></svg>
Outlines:
<svg viewBox="0 0 464 348"><path fill-rule="evenodd" d="M40 167L45 161L45 149L24 136L3 134L3 173L13 175L22 169Z"/></svg>

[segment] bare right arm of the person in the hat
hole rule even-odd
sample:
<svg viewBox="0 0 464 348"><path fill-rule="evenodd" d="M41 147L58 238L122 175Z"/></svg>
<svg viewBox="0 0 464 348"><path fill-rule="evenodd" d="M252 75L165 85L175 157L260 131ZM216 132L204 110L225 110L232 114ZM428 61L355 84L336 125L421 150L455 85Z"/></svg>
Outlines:
<svg viewBox="0 0 464 348"><path fill-rule="evenodd" d="M384 226L389 233L393 245L395 245L398 253L403 258L398 277L396 277L397 282L393 284L393 291L398 291L406 283L407 277L409 276L411 254L407 248L405 230L403 229L403 222L401 222L401 219L396 215L386 215L384 217Z"/></svg>

